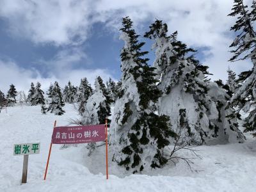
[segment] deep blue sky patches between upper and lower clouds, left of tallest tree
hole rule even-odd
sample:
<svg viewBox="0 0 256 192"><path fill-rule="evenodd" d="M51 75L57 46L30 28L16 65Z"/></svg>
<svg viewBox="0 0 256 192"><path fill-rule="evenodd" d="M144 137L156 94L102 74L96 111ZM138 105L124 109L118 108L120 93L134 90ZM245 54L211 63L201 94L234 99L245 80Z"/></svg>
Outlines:
<svg viewBox="0 0 256 192"><path fill-rule="evenodd" d="M40 70L42 77L49 77L49 68L45 68L42 60L51 60L58 52L74 48L70 45L33 44L30 40L10 35L6 25L4 20L0 21L1 58L12 58L15 63L19 63L19 67L25 69L36 68ZM93 24L92 31L88 40L79 45L79 49L86 54L86 57L72 63L72 69L108 68L113 72L113 76L118 78L120 76L119 54L123 42L115 39L111 31L106 31L103 24Z"/></svg>

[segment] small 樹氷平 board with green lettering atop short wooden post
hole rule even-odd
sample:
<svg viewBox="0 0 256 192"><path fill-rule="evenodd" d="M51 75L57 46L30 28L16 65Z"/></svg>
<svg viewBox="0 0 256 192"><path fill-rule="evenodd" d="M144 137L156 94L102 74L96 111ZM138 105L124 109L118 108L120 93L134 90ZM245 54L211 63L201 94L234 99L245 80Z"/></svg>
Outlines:
<svg viewBox="0 0 256 192"><path fill-rule="evenodd" d="M33 155L33 154L39 154L39 152L40 152L40 143L22 143L22 144L14 144L13 146L14 156Z"/></svg>

